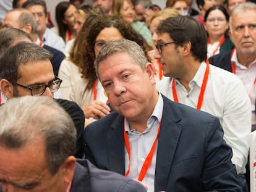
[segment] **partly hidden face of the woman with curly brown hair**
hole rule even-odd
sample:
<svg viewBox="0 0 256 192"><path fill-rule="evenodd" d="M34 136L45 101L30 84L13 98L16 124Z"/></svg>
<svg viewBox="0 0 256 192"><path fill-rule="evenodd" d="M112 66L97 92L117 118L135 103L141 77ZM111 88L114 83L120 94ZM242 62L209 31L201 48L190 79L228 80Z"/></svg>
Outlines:
<svg viewBox="0 0 256 192"><path fill-rule="evenodd" d="M124 36L120 33L117 28L114 27L106 27L103 28L103 30L100 31L98 36L96 37L95 44L94 44L94 51L95 56L97 57L100 49L105 46L106 43L109 43L113 40L122 40Z"/></svg>

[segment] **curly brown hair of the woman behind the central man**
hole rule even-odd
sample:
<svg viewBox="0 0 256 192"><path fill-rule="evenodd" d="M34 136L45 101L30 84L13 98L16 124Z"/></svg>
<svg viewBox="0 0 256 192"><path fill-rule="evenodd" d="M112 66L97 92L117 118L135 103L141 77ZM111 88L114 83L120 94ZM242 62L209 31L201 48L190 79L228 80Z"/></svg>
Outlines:
<svg viewBox="0 0 256 192"><path fill-rule="evenodd" d="M90 17L87 20L90 20ZM87 78L87 90L93 88L93 83L97 78L94 68L94 61L96 59L95 40L100 31L106 27L117 28L124 38L139 44L146 55L151 49L143 37L132 28L130 23L127 23L120 16L98 15L96 18L94 16L94 20L90 25L86 21L79 33L79 39L76 40L77 46L74 47L74 52L70 54L70 58L73 58L71 61L79 66L82 77ZM150 61L149 57L148 61Z"/></svg>

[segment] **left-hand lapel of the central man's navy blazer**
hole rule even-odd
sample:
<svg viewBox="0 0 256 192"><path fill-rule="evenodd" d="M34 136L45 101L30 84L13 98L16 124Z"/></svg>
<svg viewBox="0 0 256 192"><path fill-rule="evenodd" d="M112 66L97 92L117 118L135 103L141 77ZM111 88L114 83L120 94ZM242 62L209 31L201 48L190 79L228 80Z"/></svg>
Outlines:
<svg viewBox="0 0 256 192"><path fill-rule="evenodd" d="M117 115L108 135L110 170L124 175L124 117Z"/></svg>

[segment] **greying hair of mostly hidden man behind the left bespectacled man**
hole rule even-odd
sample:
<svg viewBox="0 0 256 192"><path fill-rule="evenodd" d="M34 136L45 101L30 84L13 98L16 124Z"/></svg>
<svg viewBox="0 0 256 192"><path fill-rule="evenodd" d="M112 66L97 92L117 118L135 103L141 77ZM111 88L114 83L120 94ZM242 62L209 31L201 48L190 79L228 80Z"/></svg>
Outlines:
<svg viewBox="0 0 256 192"><path fill-rule="evenodd" d="M0 30L0 58L11 48L14 41L26 38L33 42L32 38L25 31L10 27L2 28Z"/></svg>

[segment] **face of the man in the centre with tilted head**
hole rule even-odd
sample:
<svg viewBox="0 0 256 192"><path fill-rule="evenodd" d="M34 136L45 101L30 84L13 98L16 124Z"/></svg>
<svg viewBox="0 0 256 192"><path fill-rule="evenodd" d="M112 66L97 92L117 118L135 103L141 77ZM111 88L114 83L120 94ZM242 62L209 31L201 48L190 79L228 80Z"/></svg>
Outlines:
<svg viewBox="0 0 256 192"><path fill-rule="evenodd" d="M101 61L98 73L114 111L128 120L150 116L158 99L152 64L143 71L121 52Z"/></svg>

